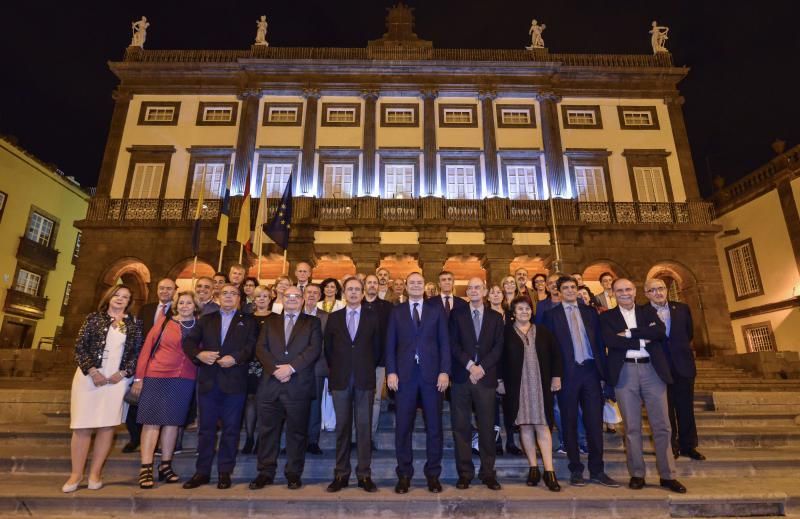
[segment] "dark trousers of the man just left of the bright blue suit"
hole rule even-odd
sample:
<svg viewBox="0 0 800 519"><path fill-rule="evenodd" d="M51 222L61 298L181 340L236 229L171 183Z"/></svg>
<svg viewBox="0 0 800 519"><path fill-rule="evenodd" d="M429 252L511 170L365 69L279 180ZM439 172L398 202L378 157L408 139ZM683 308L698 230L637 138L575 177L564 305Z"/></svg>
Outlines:
<svg viewBox="0 0 800 519"><path fill-rule="evenodd" d="M337 478L350 477L350 438L355 421L358 453L356 477L368 478L372 475L372 403L375 390L356 389L351 382L347 389L331 391L331 396L336 412L336 467L333 475Z"/></svg>

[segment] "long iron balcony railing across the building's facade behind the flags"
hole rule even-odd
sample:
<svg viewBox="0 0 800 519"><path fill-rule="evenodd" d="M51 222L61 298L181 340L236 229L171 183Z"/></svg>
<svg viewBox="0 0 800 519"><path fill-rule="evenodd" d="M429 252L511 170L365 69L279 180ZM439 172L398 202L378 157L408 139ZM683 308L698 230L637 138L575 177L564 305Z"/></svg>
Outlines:
<svg viewBox="0 0 800 519"><path fill-rule="evenodd" d="M274 214L280 199L268 199L267 216ZM216 220L219 200L205 200L203 220ZM577 202L575 200L448 200L445 198L406 198L384 200L361 198L308 198L293 201L293 221L325 224L337 221L414 222L444 221L550 224L554 210L558 224L700 224L714 219L709 202ZM94 198L86 219L91 222L174 223L194 219L197 200L184 199L103 199ZM231 198L230 217L237 219L242 197ZM254 222L258 202L250 204Z"/></svg>

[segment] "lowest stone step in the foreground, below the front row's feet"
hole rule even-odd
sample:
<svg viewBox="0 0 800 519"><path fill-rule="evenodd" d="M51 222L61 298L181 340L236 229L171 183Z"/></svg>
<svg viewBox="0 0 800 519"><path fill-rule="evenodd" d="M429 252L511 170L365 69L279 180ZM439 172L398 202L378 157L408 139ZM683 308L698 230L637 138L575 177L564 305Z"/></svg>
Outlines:
<svg viewBox="0 0 800 519"><path fill-rule="evenodd" d="M652 478L651 478L652 479ZM523 482L501 481L500 491L480 485L457 490L444 480L441 494L424 488L421 475L412 480L408 495L392 491L394 480L379 480L379 491L367 494L347 488L337 494L325 491L328 480L304 480L300 490L288 490L279 478L275 486L252 491L247 480L234 480L233 488L220 491L206 485L192 491L178 485L160 485L154 490L133 486L133 478L106 478L99 491L82 487L78 492L61 492L61 476L15 475L0 487L0 514L26 516L59 515L75 517L752 517L782 516L797 510L797 485L783 477L760 480L754 487L746 480L703 478L688 480L689 493L671 494L656 481L643 490L583 488L562 483L561 492L526 487ZM354 483L354 481L353 481ZM85 483L84 483L85 485ZM355 487L353 484L352 487Z"/></svg>

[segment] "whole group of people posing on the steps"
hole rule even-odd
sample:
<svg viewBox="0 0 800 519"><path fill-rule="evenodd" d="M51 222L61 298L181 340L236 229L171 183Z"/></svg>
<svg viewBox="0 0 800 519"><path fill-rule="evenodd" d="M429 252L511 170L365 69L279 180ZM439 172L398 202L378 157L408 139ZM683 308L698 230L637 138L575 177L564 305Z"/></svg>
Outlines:
<svg viewBox="0 0 800 519"><path fill-rule="evenodd" d="M527 457L529 486L543 481L551 491L561 488L553 465L554 428L569 459L571 485L619 486L603 462L607 399L619 402L625 424L630 488L645 486L642 405L662 487L686 492L676 479L675 459L704 459L693 414L691 314L686 305L668 300L660 279L645 282L648 302L637 305L636 286L610 273L600 276L603 291L596 297L579 274L537 274L529 285L528 272L520 268L491 286L469 279L461 298L448 271L435 284L418 272L391 279L383 268L317 284L311 270L301 262L294 281L282 276L272 287L246 277L241 265L227 276L197 279L194 290L178 290L174 280L162 279L158 302L143 305L137 317L130 313L131 289L111 287L76 341L72 474L62 490L73 492L82 481L93 432L88 486L102 487L114 428L126 416L131 442L125 450L141 450L141 488L153 488L156 478L180 481L172 458L183 429L196 419L197 463L184 488L210 483L215 457L217 487L232 485L244 426L241 452L258 458L249 487L274 484L285 433L284 475L288 488L298 489L306 453L321 453L326 384L336 422L329 492L348 486L353 445L358 486L377 491L371 462L384 395L393 398L394 490L400 494L409 491L414 474L418 408L425 423L427 487L442 490L445 399L458 489L468 488L476 475L475 430L477 476L488 488L501 488L495 470L502 453L501 409L506 450ZM514 442L517 430L523 450ZM588 480L582 452L588 454Z"/></svg>

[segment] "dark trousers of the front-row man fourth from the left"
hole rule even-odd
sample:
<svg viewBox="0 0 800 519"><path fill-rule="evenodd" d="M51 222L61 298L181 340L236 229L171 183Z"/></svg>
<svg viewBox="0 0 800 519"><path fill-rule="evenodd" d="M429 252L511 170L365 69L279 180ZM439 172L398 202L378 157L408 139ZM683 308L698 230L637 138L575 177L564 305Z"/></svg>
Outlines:
<svg viewBox="0 0 800 519"><path fill-rule="evenodd" d="M295 400L286 392L277 399L266 399L256 394L258 406L258 473L275 477L278 452L281 448L281 430L286 423L286 467L284 474L300 477L306 462L308 448L308 416L310 399Z"/></svg>

